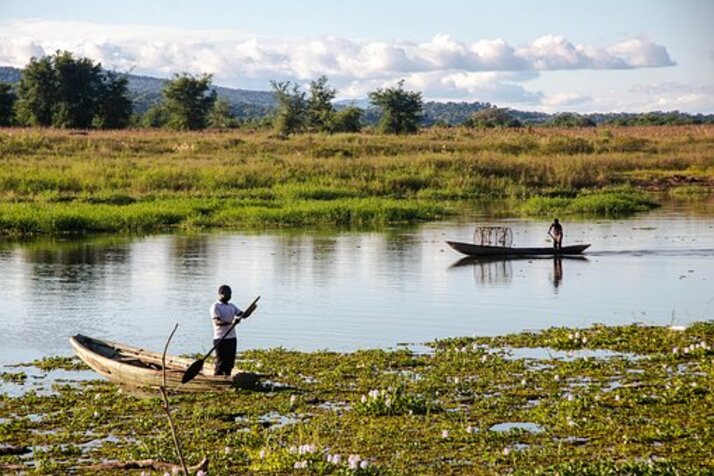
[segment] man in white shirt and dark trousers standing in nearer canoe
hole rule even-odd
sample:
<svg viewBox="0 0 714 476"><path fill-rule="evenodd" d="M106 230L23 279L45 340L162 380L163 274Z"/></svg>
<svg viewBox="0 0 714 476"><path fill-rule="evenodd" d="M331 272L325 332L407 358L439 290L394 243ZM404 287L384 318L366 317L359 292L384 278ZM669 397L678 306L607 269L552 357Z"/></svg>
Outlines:
<svg viewBox="0 0 714 476"><path fill-rule="evenodd" d="M218 301L211 305L213 345L216 347L216 375L230 375L236 362L236 330L231 328L235 318L243 315L231 300L233 291L227 284L218 288ZM225 336L225 337L224 337ZM221 338L220 342L218 342Z"/></svg>

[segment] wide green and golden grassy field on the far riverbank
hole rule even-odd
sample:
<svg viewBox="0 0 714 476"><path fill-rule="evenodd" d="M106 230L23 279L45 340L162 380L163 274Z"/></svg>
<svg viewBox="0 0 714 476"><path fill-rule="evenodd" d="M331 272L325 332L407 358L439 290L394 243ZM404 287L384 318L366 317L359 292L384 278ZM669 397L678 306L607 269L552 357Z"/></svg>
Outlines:
<svg viewBox="0 0 714 476"><path fill-rule="evenodd" d="M714 189L714 126L416 136L0 130L0 234L364 226L482 201L622 215Z"/></svg>

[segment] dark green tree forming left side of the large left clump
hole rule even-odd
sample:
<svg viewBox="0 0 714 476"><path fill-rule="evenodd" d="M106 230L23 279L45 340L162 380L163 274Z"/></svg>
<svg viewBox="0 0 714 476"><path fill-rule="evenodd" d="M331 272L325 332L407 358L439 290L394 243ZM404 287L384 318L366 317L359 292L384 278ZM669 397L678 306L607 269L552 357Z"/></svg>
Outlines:
<svg viewBox="0 0 714 476"><path fill-rule="evenodd" d="M19 121L28 126L51 126L57 88L52 57L30 58L17 88Z"/></svg>

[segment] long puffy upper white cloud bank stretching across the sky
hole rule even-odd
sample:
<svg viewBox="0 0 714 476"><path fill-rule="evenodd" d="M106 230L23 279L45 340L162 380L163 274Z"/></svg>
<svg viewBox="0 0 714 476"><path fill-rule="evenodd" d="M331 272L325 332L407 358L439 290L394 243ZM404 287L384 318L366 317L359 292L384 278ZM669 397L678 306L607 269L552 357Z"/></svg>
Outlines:
<svg viewBox="0 0 714 476"><path fill-rule="evenodd" d="M102 62L142 69L247 74L282 72L371 78L434 71L547 71L670 66L664 46L635 38L609 49L543 36L514 48L504 40L460 42L436 35L423 43L358 42L343 38L255 38L226 30L180 30L146 25L10 21L0 24L0 62L26 64L30 56L67 49ZM21 38L18 40L17 38Z"/></svg>

